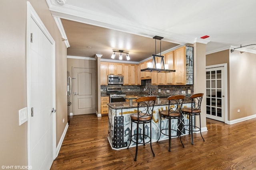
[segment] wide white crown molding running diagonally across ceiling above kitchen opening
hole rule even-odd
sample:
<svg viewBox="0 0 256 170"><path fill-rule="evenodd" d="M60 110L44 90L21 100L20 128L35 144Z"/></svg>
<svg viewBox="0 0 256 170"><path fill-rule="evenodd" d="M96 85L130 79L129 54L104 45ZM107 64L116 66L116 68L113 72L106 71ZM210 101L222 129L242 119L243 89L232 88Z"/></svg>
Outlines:
<svg viewBox="0 0 256 170"><path fill-rule="evenodd" d="M50 0L46 0L50 1ZM70 6L65 4L60 6L56 3L51 3L49 9L52 16L63 18L66 20L77 21L90 25L96 25L109 29L114 29L126 33L132 33L144 37L152 38L155 35L164 37L164 41L177 44L194 43L194 37L188 37L186 35L178 35L176 33L170 33L154 27L148 27L142 24L133 23L129 20L122 20L118 17L103 15L94 11L84 10L82 8ZM118 23L118 24L117 24ZM208 43L208 41L202 41Z"/></svg>

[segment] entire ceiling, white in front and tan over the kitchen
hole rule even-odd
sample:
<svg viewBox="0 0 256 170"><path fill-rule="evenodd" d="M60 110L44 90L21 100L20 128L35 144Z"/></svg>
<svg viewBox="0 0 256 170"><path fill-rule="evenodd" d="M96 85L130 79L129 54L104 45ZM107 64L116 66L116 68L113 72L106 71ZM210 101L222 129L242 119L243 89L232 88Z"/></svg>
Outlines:
<svg viewBox="0 0 256 170"><path fill-rule="evenodd" d="M130 61L140 62L160 53L160 41L155 48L152 39L155 35L164 37L162 53L196 42L206 44L206 54L256 44L255 0L46 2L68 56L110 59L115 49L128 51ZM210 37L201 39L204 35ZM256 45L242 49L256 53Z"/></svg>

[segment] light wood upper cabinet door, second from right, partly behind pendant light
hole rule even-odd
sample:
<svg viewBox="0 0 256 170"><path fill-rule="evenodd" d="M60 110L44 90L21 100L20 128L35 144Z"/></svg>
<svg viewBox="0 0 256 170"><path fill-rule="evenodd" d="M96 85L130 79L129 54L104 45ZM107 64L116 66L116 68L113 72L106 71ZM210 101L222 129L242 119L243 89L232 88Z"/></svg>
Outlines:
<svg viewBox="0 0 256 170"><path fill-rule="evenodd" d="M174 70L174 51L165 55L165 63L168 64L169 70ZM174 72L165 73L167 85L174 84Z"/></svg>

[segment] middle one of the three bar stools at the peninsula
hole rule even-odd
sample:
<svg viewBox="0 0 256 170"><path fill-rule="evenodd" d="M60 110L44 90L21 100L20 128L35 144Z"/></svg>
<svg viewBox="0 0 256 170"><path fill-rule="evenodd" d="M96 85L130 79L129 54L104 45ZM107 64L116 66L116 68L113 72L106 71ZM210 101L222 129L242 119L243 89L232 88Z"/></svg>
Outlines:
<svg viewBox="0 0 256 170"><path fill-rule="evenodd" d="M169 100L169 105L168 105L168 110L162 110L160 111L160 116L161 116L161 121L160 121L160 136L157 140L159 141L161 134L166 135L169 137L169 149L168 151L171 151L171 137L180 137L181 135L181 129L172 129L171 126L171 121L172 119L180 119L181 115L181 108L182 108L182 103L184 100L185 96L184 95L175 95L175 96L169 96L167 100ZM162 129L162 117L168 119L169 127L168 129ZM164 133L164 131L168 130L168 134ZM171 135L172 131L176 131L176 135ZM180 137L180 142L182 146L184 147L181 137Z"/></svg>

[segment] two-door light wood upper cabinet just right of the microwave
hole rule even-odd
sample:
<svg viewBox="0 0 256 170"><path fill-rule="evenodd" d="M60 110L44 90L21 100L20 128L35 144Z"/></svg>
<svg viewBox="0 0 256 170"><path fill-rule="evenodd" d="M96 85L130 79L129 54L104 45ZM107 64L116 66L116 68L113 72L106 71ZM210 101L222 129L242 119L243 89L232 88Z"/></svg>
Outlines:
<svg viewBox="0 0 256 170"><path fill-rule="evenodd" d="M124 84L136 85L136 64L124 64Z"/></svg>

